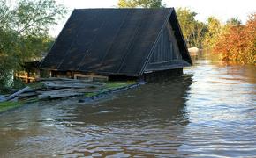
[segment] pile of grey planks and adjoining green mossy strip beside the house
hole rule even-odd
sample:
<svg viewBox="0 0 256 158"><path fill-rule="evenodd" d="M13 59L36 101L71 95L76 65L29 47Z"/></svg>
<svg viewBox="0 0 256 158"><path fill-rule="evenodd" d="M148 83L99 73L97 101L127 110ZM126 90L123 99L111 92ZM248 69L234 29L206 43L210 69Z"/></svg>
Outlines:
<svg viewBox="0 0 256 158"><path fill-rule="evenodd" d="M1 97L0 102L11 100L56 99L62 97L99 97L110 92L127 90L142 83L136 82L93 82L68 78L39 78L37 83L26 86L8 97ZM36 85L36 86L34 86Z"/></svg>

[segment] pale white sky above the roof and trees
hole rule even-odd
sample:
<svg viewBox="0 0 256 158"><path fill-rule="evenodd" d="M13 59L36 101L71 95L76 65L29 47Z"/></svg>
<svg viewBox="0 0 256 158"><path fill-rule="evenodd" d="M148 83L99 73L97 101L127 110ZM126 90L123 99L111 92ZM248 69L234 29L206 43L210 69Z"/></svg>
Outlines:
<svg viewBox="0 0 256 158"><path fill-rule="evenodd" d="M56 0L64 4L70 11L79 8L115 8L118 0ZM222 22L229 18L239 18L245 24L248 15L256 12L256 0L162 0L166 7L187 7L198 13L197 19L206 22L209 16L215 16ZM64 18L51 34L56 36L64 26Z"/></svg>

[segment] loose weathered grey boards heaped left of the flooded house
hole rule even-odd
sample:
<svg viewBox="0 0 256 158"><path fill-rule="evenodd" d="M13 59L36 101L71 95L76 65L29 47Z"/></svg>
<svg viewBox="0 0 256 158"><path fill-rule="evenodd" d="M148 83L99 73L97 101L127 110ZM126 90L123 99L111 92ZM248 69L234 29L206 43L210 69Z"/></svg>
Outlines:
<svg viewBox="0 0 256 158"><path fill-rule="evenodd" d="M109 91L117 91L119 88L107 89L104 87L106 83L92 82L86 80L69 79L69 78L40 78L38 79L42 84L34 89L26 87L18 90L8 97L1 97L0 102L38 98L38 99L55 99L61 97L75 97L83 96L86 93L106 93ZM128 86L129 87L129 86ZM103 90L104 89L104 90ZM122 88L123 90L124 88ZM103 90L103 91L102 91Z"/></svg>

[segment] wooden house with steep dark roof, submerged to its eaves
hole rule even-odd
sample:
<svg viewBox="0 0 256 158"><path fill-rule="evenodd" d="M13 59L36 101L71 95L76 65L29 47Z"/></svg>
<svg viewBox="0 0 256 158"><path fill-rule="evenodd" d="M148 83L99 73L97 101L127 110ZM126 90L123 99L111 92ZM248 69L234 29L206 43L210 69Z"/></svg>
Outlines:
<svg viewBox="0 0 256 158"><path fill-rule="evenodd" d="M147 81L191 65L173 8L75 9L40 68L56 77Z"/></svg>

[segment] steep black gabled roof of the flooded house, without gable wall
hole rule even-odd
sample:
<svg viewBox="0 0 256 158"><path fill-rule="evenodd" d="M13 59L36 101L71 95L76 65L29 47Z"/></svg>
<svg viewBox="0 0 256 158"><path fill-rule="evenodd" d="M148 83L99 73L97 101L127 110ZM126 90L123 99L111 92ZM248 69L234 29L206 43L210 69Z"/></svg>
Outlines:
<svg viewBox="0 0 256 158"><path fill-rule="evenodd" d="M141 75L169 20L179 33L183 59L192 64L173 8L79 9L72 12L41 68Z"/></svg>

